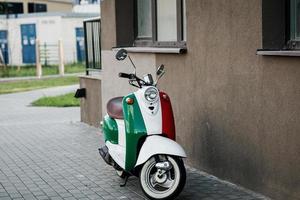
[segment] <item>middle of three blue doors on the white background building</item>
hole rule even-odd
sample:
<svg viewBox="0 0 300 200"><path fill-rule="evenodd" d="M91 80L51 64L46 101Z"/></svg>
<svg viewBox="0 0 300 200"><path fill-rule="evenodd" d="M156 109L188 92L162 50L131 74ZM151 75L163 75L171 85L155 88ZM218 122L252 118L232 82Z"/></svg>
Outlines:
<svg viewBox="0 0 300 200"><path fill-rule="evenodd" d="M23 63L35 63L35 39L36 29L35 24L21 25L21 40L22 40L22 57Z"/></svg>

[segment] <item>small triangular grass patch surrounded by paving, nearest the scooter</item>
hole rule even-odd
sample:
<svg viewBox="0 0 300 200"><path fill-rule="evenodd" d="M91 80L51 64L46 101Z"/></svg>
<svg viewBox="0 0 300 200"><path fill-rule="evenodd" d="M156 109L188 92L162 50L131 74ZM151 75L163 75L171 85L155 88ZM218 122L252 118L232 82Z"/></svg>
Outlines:
<svg viewBox="0 0 300 200"><path fill-rule="evenodd" d="M80 106L80 101L74 97L74 93L72 92L59 96L42 97L32 102L31 105L47 107L75 107Z"/></svg>

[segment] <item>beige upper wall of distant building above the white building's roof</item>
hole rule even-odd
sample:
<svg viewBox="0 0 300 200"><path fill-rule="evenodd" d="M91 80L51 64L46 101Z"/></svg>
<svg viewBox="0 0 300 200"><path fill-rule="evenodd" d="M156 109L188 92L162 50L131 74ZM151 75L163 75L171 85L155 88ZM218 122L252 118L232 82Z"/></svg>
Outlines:
<svg viewBox="0 0 300 200"><path fill-rule="evenodd" d="M48 1L48 0L0 0L0 2L22 2L24 13L28 13L28 3L43 3L47 4L47 12L71 12L73 3L71 0L63 1Z"/></svg>

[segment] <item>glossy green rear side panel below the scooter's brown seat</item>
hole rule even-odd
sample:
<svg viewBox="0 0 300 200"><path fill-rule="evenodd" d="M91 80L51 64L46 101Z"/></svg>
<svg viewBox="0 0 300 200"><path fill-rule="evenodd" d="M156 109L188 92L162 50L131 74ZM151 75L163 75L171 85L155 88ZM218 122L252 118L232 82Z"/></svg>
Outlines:
<svg viewBox="0 0 300 200"><path fill-rule="evenodd" d="M118 144L118 125L115 119L105 115L102 126L105 142Z"/></svg>

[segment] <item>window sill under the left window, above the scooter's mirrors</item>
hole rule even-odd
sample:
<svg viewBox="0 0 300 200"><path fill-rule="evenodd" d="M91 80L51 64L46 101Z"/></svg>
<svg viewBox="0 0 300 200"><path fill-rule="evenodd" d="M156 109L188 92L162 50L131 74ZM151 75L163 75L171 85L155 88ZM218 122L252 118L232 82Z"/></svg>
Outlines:
<svg viewBox="0 0 300 200"><path fill-rule="evenodd" d="M121 48L115 47L113 50ZM161 53L161 54L184 54L187 52L186 48L159 48L159 47L124 47L130 53Z"/></svg>

